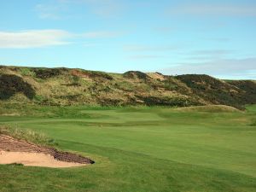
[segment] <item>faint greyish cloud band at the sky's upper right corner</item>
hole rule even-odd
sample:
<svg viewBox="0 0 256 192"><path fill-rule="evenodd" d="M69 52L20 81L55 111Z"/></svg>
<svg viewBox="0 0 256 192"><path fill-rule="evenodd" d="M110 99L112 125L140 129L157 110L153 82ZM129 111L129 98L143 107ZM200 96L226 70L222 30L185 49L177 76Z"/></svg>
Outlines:
<svg viewBox="0 0 256 192"><path fill-rule="evenodd" d="M255 3L185 3L167 10L174 15L256 16Z"/></svg>

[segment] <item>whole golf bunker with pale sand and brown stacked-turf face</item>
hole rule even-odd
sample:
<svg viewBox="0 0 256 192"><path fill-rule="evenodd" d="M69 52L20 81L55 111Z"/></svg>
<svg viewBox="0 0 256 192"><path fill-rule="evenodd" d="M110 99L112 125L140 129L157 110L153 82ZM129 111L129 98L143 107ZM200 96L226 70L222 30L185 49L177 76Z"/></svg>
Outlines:
<svg viewBox="0 0 256 192"><path fill-rule="evenodd" d="M0 135L0 164L24 166L73 167L87 166L94 161L79 154L58 151Z"/></svg>

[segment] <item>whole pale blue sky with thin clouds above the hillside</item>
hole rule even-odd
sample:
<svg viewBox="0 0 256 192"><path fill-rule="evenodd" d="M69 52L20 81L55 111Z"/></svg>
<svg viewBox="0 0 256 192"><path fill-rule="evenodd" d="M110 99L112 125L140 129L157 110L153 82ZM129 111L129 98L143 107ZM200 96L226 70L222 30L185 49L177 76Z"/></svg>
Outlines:
<svg viewBox="0 0 256 192"><path fill-rule="evenodd" d="M0 0L0 64L256 79L255 0Z"/></svg>

